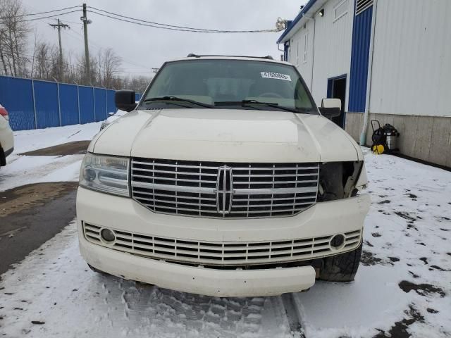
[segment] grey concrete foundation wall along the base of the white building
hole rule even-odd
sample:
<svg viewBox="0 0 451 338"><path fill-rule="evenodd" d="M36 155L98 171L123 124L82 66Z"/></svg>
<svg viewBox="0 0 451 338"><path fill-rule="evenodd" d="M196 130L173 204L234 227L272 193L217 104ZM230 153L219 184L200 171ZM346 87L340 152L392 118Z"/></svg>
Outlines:
<svg viewBox="0 0 451 338"><path fill-rule="evenodd" d="M390 123L399 132L400 153L451 168L451 117L369 114L369 121ZM345 130L359 142L364 123L363 113L346 113ZM366 132L366 145L371 145L371 123Z"/></svg>

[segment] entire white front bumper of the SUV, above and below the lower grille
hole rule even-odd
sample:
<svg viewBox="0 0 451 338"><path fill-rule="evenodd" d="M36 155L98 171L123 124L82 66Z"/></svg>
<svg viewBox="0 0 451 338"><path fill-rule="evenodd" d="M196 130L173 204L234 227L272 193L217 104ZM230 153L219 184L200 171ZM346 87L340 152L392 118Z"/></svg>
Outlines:
<svg viewBox="0 0 451 338"><path fill-rule="evenodd" d="M147 258L93 244L85 238L82 222L182 241L273 242L362 230L369 205L369 195L363 194L319 203L292 217L224 220L152 213L132 199L79 188L80 251L87 263L106 273L182 292L210 296L268 296L299 292L314 284L315 271L311 266L223 270L221 267L169 263L161 258Z"/></svg>

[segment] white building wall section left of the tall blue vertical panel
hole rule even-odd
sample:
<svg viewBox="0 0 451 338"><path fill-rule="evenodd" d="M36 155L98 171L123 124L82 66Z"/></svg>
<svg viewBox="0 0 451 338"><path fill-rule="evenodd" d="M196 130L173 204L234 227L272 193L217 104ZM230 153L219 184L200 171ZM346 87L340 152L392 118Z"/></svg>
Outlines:
<svg viewBox="0 0 451 338"><path fill-rule="evenodd" d="M343 4L346 10L340 18L335 19L335 7L339 4ZM346 74L347 87L349 87L354 0L330 0L322 8L324 9L323 17L315 13L312 15L314 20L307 20L306 27L302 27L290 39L288 58L289 62L297 65L299 73L307 82L318 105L321 104L321 99L327 96L327 81L330 77ZM307 61L304 62L306 32L308 48ZM296 58L298 43L299 61ZM311 80L312 67L313 81ZM348 88L346 93L348 97ZM347 97L346 101L348 101Z"/></svg>

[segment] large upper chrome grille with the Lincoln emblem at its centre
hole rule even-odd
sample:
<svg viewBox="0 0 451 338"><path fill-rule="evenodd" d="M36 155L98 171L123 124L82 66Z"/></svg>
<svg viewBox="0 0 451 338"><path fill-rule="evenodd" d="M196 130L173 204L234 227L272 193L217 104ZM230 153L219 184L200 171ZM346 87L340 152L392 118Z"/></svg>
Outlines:
<svg viewBox="0 0 451 338"><path fill-rule="evenodd" d="M132 159L132 197L159 213L211 218L295 215L316 203L318 163Z"/></svg>

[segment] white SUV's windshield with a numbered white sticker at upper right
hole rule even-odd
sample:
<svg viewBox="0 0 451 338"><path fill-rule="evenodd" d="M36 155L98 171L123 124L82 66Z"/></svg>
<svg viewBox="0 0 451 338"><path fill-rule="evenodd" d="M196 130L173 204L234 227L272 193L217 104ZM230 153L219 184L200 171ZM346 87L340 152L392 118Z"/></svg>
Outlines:
<svg viewBox="0 0 451 338"><path fill-rule="evenodd" d="M166 104L162 102L165 98ZM208 106L194 106L193 102L175 101L173 98ZM268 110L285 107L299 113L317 113L302 78L293 66L249 60L205 59L166 63L144 94L141 108L154 108L155 105L161 105L161 108L171 105L171 108L240 109L264 105Z"/></svg>

